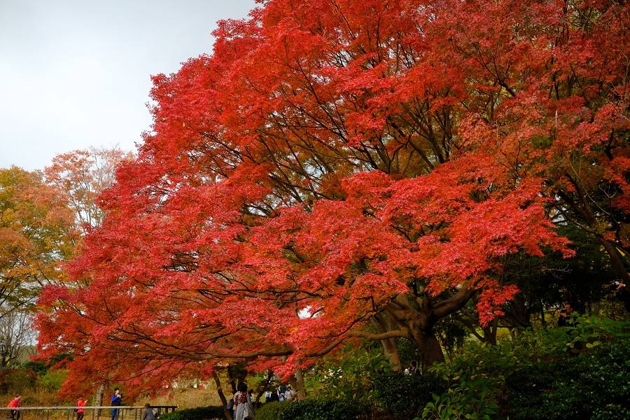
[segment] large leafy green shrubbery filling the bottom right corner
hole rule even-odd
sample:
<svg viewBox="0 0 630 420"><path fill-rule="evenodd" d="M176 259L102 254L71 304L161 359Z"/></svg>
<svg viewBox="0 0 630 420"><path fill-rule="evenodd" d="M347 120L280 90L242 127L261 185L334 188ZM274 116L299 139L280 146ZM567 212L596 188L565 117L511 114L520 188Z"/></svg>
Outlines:
<svg viewBox="0 0 630 420"><path fill-rule="evenodd" d="M630 418L624 348L630 324L580 318L575 328L527 330L479 344L430 367L448 391L433 395L424 419Z"/></svg>

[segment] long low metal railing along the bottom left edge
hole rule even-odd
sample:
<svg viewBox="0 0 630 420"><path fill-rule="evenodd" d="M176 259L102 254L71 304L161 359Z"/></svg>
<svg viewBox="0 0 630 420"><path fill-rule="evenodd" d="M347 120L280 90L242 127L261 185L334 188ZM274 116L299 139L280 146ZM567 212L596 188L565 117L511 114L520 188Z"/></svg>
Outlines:
<svg viewBox="0 0 630 420"><path fill-rule="evenodd" d="M176 405L151 405L151 408L154 408L158 411L158 416L164 413L174 412L177 408ZM4 417L5 419L11 418L11 412L13 410L18 410L20 412L20 420L26 419L27 416L29 419L41 419L41 420L50 420L53 419L63 419L67 420L76 419L76 409L84 409L83 419L87 420L98 420L101 417L104 419L111 419L111 409L118 409L118 420L142 420L142 415L144 414L144 405L102 405L102 406L90 406L90 407L78 407L78 406L67 406L67 407L0 407L0 413L4 413L4 416L0 414L0 419ZM91 412L91 413L90 413Z"/></svg>

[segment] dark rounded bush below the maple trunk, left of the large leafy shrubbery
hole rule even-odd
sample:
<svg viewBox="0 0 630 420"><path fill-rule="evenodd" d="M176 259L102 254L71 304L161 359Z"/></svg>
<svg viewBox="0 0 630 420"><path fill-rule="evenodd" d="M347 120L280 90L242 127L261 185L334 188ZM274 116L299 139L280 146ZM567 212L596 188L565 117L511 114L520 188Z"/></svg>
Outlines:
<svg viewBox="0 0 630 420"><path fill-rule="evenodd" d="M374 381L374 403L396 417L413 419L433 394L446 391L444 384L431 374L410 375L384 372Z"/></svg>

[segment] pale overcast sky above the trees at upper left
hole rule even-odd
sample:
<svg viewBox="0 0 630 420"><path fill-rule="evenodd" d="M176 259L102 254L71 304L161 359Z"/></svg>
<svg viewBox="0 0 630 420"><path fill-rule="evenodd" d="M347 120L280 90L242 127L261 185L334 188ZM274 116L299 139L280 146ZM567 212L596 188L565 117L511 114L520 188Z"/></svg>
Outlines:
<svg viewBox="0 0 630 420"><path fill-rule="evenodd" d="M0 168L90 146L135 151L151 75L212 52L254 0L0 0Z"/></svg>

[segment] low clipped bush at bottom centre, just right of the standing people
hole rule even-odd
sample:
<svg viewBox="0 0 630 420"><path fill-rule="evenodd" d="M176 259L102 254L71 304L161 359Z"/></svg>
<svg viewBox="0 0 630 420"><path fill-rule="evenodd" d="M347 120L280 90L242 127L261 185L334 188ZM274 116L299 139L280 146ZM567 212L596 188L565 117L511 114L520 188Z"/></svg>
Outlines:
<svg viewBox="0 0 630 420"><path fill-rule="evenodd" d="M365 402L321 398L290 402L282 408L278 420L351 420L369 412Z"/></svg>

